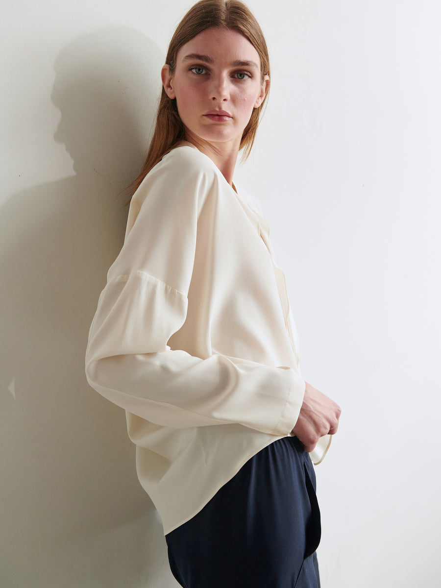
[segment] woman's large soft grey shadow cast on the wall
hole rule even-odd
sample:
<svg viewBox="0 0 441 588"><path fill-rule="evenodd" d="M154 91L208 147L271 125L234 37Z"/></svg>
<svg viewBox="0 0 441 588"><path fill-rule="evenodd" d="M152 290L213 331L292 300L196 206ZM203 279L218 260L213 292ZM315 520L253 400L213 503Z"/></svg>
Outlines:
<svg viewBox="0 0 441 588"><path fill-rule="evenodd" d="M124 413L88 386L84 355L122 245L121 191L145 156L162 62L128 28L66 46L52 101L55 139L75 175L0 209L0 577L11 587L159 586L162 527L136 479Z"/></svg>

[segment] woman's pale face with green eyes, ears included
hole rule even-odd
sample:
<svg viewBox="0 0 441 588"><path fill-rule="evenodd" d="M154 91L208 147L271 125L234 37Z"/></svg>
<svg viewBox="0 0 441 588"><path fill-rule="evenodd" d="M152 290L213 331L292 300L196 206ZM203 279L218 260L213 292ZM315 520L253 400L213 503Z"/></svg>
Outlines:
<svg viewBox="0 0 441 588"><path fill-rule="evenodd" d="M173 75L163 66L162 81L169 98L176 98L189 141L239 151L243 129L265 98L269 78L262 83L259 54L245 36L211 28L179 49Z"/></svg>

